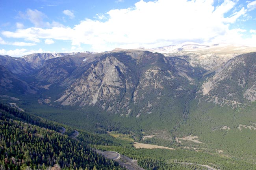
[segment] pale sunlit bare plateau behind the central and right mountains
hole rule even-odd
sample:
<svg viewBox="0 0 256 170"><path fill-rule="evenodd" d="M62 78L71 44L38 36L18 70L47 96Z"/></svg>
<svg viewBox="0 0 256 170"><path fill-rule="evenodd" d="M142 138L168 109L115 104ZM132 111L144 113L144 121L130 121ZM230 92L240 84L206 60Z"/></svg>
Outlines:
<svg viewBox="0 0 256 170"><path fill-rule="evenodd" d="M222 66L231 58L243 53L255 52L256 48L236 44L178 44L151 49L163 53L166 57L180 57L186 59L193 67L200 66L211 70Z"/></svg>

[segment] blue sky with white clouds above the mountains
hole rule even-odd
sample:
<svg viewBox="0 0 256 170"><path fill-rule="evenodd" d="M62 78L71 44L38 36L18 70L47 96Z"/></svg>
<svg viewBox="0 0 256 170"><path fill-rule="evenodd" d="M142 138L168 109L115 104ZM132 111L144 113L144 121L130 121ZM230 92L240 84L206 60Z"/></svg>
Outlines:
<svg viewBox="0 0 256 170"><path fill-rule="evenodd" d="M256 47L256 0L0 0L0 54Z"/></svg>

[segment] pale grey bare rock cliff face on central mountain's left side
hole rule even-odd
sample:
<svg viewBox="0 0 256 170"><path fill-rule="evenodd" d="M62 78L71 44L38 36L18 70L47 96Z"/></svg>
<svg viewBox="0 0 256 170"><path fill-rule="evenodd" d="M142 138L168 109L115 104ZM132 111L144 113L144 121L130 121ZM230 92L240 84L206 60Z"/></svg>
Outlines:
<svg viewBox="0 0 256 170"><path fill-rule="evenodd" d="M79 79L65 91L58 101L63 105L80 106L95 104L96 102L111 101L113 96L120 95L121 90L128 88L122 76L128 70L127 66L114 57L106 57L105 60L93 64Z"/></svg>

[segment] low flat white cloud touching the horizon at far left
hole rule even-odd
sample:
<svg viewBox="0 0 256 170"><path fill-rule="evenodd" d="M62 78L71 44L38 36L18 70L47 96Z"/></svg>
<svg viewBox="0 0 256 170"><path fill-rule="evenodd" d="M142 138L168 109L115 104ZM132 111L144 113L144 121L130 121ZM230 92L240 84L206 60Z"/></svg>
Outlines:
<svg viewBox="0 0 256 170"><path fill-rule="evenodd" d="M28 55L32 53L43 53L43 49L39 48L38 50L30 50L30 49L15 49L15 50L5 50L0 49L0 55L9 55L11 57L22 57L23 55Z"/></svg>

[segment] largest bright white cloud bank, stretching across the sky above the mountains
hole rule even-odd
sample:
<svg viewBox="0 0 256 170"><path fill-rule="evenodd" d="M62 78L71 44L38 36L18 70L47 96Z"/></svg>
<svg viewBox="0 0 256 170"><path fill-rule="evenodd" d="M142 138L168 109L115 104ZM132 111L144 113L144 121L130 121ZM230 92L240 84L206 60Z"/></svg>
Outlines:
<svg viewBox="0 0 256 170"><path fill-rule="evenodd" d="M230 24L245 16L247 10L240 7L237 12L232 12L237 1L224 0L216 8L213 2L214 0L141 0L135 7L108 11L105 14L108 15L106 20L85 19L74 27L57 24L49 29L31 27L15 32L2 31L2 35L11 38L70 40L71 46L89 44L93 51L107 51L116 47L153 48L186 41L208 43L225 41L226 38L232 41L232 36L237 37L234 38L234 43L241 40L243 32L230 29ZM232 14L226 17L227 13Z"/></svg>

